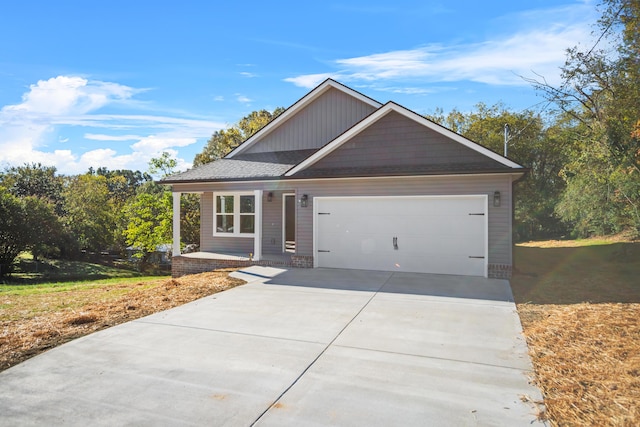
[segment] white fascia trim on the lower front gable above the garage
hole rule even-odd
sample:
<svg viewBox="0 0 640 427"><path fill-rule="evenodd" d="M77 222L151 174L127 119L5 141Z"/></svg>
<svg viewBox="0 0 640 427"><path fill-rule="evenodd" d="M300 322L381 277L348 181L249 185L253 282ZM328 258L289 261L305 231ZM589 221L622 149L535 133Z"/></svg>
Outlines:
<svg viewBox="0 0 640 427"><path fill-rule="evenodd" d="M342 144L344 144L345 142L347 142L348 140L350 140L351 138L353 138L354 136L356 136L358 133L362 132L363 130L365 130L367 127L369 127L370 125L372 125L373 123L375 123L376 121L380 120L382 117L384 117L386 114L390 113L391 111L395 111L399 114L402 114L403 116L414 120L418 123L420 123L421 125L428 127L429 129L440 133L441 135L452 139L462 145L464 145L465 147L471 148L472 150L477 151L480 154L484 154L485 156L505 165L508 166L510 168L513 169L522 169L522 166L512 162L511 160L507 159L506 157L502 157L499 154L494 153L493 151L484 148L481 145L476 144L475 142L465 138L462 135L459 135L445 127L442 127L434 122L432 122L431 120L426 119L425 117L422 117L421 115L414 113L411 110L408 110L404 107L402 107L401 105L398 105L396 103L393 102L388 102L387 104L385 104L382 108L379 108L378 110L374 111L373 113L371 113L368 117L364 118L362 121L360 121L360 123L356 124L355 126L353 126L351 129L347 130L345 133L343 133L342 135L338 136L336 139L334 139L332 142L330 142L329 144L327 144L324 148L318 150L317 152L315 152L312 156L309 156L306 160L304 160L303 162L299 163L297 166L295 166L294 168L290 169L285 176L292 176L306 168L308 168L309 166L313 165L314 163L316 163L317 161L319 161L320 159L322 159L323 157L327 156L329 153L333 152L334 150L336 150L337 148L339 148Z"/></svg>

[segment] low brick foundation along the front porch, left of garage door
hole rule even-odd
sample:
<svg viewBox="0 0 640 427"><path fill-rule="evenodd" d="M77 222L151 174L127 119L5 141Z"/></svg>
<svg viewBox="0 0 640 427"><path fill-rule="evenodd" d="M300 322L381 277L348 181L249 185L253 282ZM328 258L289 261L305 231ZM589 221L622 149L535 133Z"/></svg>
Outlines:
<svg viewBox="0 0 640 427"><path fill-rule="evenodd" d="M313 268L313 257L293 255L291 261L249 261L234 259L206 259L176 256L171 259L171 277L182 277L187 274L205 273L220 268L242 268L250 265L265 267Z"/></svg>

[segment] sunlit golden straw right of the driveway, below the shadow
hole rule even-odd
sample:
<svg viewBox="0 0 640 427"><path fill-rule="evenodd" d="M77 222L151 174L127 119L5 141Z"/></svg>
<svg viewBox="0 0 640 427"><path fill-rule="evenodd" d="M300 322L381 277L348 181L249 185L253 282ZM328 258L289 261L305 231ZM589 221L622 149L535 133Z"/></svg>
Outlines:
<svg viewBox="0 0 640 427"><path fill-rule="evenodd" d="M640 423L640 304L519 304L555 426Z"/></svg>

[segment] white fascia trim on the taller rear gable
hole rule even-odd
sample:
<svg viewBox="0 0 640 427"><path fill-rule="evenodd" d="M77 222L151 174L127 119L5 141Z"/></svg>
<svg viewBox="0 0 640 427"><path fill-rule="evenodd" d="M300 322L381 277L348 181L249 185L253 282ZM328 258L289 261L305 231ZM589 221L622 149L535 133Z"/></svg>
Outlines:
<svg viewBox="0 0 640 427"><path fill-rule="evenodd" d="M382 106L382 104L379 103L378 101L375 101L361 94L360 92L357 92L347 86L344 86L336 82L335 80L327 79L323 83L321 83L319 86L317 86L315 89L313 89L311 92L309 92L308 94L300 98L298 101L296 101L296 103L293 104L291 107L287 108L282 114L280 114L271 123L267 124L265 127L260 129L254 135L252 135L245 142L243 142L242 144L237 146L235 149L233 149L229 154L225 156L225 158L230 159L233 156L240 154L243 151L246 151L249 147L253 146L262 138L269 135L271 132L277 129L280 125L282 125L287 120L289 120L290 117L293 117L294 115L296 115L300 110L302 110L304 107L306 107L307 105L315 101L320 95L322 95L323 93L325 93L331 88L344 92L347 95L350 95L358 99L359 101L362 101L368 105L371 105L374 108L380 108Z"/></svg>

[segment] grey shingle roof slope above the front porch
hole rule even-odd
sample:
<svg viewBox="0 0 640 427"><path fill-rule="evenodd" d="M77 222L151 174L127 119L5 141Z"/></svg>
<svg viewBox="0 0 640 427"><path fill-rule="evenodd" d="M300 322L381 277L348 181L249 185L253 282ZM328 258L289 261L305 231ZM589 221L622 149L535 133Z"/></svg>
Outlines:
<svg viewBox="0 0 640 427"><path fill-rule="evenodd" d="M313 149L241 154L231 159L219 159L186 172L171 175L161 182L173 184L280 178L286 171L316 151Z"/></svg>

